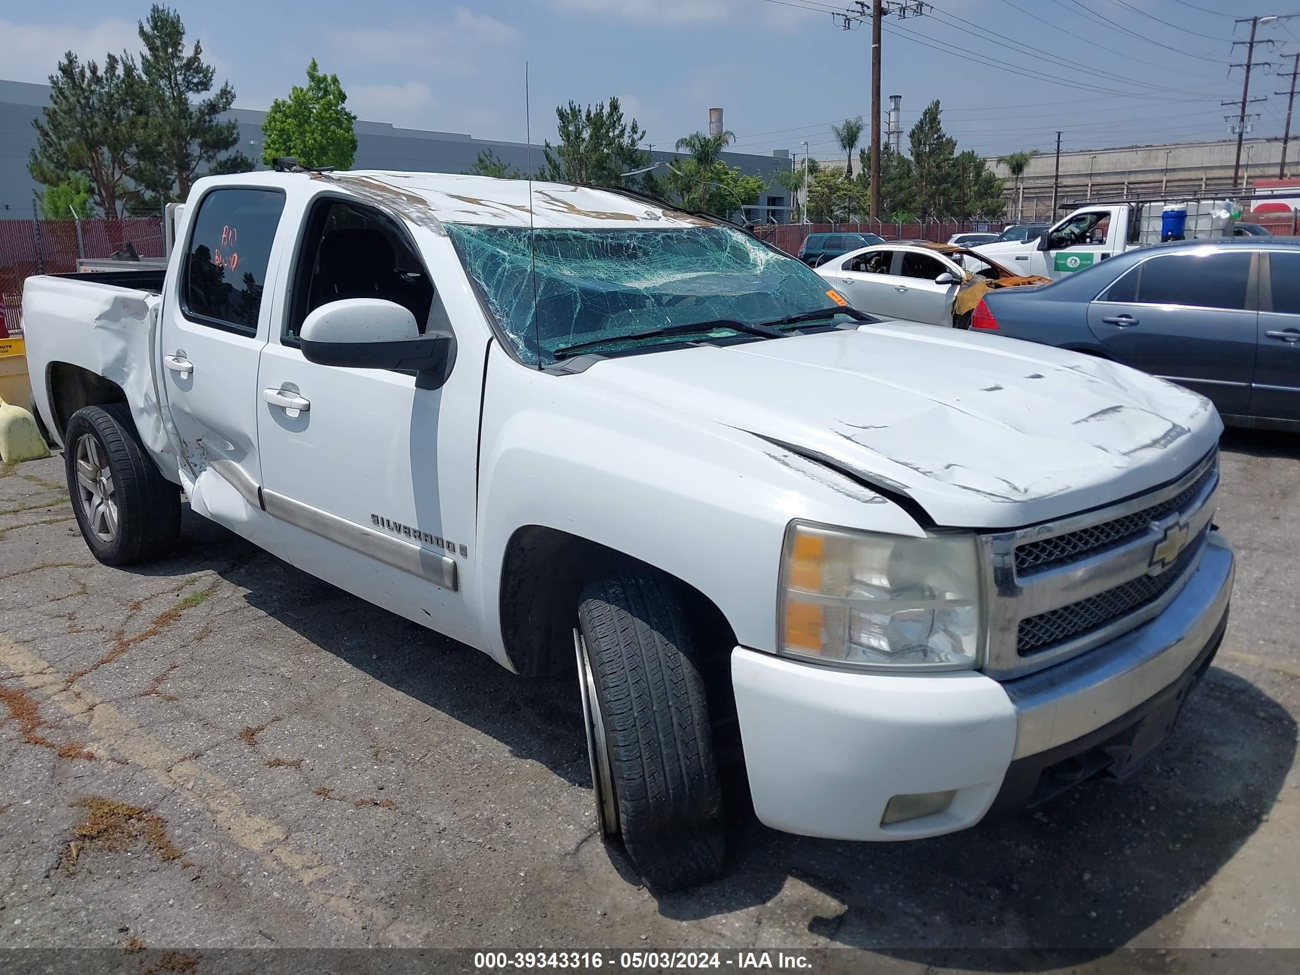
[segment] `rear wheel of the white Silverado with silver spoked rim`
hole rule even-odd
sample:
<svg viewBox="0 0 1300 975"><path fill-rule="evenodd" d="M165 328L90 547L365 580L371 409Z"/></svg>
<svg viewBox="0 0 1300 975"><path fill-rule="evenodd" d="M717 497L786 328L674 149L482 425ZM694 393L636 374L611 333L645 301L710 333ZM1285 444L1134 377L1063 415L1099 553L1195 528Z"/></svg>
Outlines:
<svg viewBox="0 0 1300 975"><path fill-rule="evenodd" d="M98 447L100 474L94 480L99 495L87 498L78 480L78 459L83 438ZM91 450L90 445L86 445ZM73 413L64 436L64 469L68 494L91 554L105 566L129 566L170 551L181 536L181 489L159 472L144 452L126 403L83 407ZM95 497L107 493L114 499L112 525L96 511ZM110 529L110 530L109 530ZM108 537L105 537L108 536Z"/></svg>

